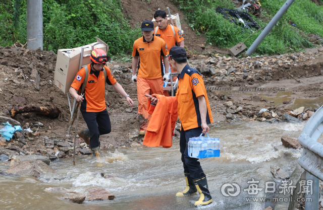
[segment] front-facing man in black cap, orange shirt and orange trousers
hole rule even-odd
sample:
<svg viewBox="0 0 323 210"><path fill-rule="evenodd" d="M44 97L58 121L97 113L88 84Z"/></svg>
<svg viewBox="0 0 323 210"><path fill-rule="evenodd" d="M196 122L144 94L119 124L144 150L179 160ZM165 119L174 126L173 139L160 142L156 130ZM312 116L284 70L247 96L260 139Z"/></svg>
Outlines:
<svg viewBox="0 0 323 210"><path fill-rule="evenodd" d="M167 45L163 39L154 36L152 30L153 23L151 21L142 22L141 31L143 36L134 42L132 51L132 81L137 82L139 136L141 137L146 133L150 117L147 112L148 102L145 94L163 95L164 81L162 77L164 69L162 58L164 58L164 64L167 69L166 73L168 73L169 69Z"/></svg>

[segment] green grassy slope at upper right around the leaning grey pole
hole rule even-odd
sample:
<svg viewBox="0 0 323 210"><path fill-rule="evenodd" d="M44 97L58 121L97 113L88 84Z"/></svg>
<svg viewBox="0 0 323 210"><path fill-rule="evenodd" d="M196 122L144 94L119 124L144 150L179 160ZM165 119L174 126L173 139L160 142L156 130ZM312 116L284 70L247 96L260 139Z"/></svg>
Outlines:
<svg viewBox="0 0 323 210"><path fill-rule="evenodd" d="M262 0L264 9L261 16L254 18L260 27L264 27L278 12L285 0ZM231 48L239 42L243 42L250 34L250 30L244 30L224 19L222 14L216 12L217 7L234 9L235 5L230 1L223 0L173 0L173 3L183 11L190 26L197 32L204 33L207 42ZM268 12L266 12L268 11ZM323 37L323 7L315 5L310 0L296 0L279 21L277 26L261 42L255 53L276 54L291 51L299 51L304 47L313 45L301 32L318 34ZM297 27L289 24L289 20ZM246 42L250 46L260 34L254 33Z"/></svg>

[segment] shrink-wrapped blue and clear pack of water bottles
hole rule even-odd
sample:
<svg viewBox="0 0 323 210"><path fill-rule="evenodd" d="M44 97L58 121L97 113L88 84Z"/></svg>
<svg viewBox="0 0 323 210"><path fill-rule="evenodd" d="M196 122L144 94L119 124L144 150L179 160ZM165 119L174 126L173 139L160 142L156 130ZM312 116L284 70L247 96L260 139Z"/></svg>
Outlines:
<svg viewBox="0 0 323 210"><path fill-rule="evenodd" d="M207 133L206 133L207 134ZM190 138L188 156L191 158L220 157L220 139L202 136Z"/></svg>

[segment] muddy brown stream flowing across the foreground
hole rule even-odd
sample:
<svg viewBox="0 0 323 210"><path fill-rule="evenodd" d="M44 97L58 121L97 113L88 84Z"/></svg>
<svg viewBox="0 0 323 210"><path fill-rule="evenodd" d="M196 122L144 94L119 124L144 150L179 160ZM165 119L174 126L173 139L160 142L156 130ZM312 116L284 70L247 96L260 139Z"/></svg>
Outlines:
<svg viewBox="0 0 323 210"><path fill-rule="evenodd" d="M200 160L208 179L213 203L207 209L263 209L267 203L250 203L243 189L253 178L264 187L272 181L271 165L277 165L291 174L301 155L301 150L282 146L281 136L297 138L302 123L241 122L216 124L210 135L221 141L221 157ZM30 177L0 176L0 209L195 209L194 201L199 195L178 198L176 192L184 189L185 180L179 151L179 140L173 147L122 148L106 150L103 167L98 167L92 157L77 157L73 167L71 158L51 162L57 172L42 176L39 180ZM0 171L9 168L1 165ZM99 173L114 176L103 179ZM237 183L241 192L236 197L221 193L225 183ZM47 187L65 187L72 191L85 192L91 187L102 187L116 198L107 201L85 201L75 204L63 200L61 195L45 192ZM259 192L256 196L261 196ZM262 194L263 196L263 194ZM270 204L270 203L269 203Z"/></svg>

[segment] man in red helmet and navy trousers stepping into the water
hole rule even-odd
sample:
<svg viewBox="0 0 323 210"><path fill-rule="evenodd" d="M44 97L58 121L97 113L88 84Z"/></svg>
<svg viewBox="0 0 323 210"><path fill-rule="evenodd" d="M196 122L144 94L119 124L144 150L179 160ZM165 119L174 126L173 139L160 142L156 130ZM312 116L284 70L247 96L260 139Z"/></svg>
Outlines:
<svg viewBox="0 0 323 210"><path fill-rule="evenodd" d="M77 91L84 85L85 67L81 68L76 74L70 93L77 102L82 102L80 110L88 127L79 131L78 134L89 145L93 156L98 158L100 156L99 137L111 132L110 117L105 107L105 81L126 97L130 106L133 106L133 101L113 77L110 69L105 66L105 62L109 61L110 57L106 55L104 50L94 49L90 59L91 63L87 65L88 78L84 97L80 96ZM103 68L106 71L106 78L104 78Z"/></svg>

